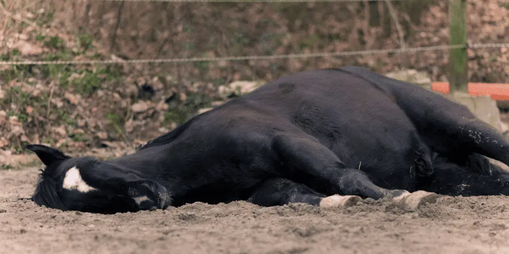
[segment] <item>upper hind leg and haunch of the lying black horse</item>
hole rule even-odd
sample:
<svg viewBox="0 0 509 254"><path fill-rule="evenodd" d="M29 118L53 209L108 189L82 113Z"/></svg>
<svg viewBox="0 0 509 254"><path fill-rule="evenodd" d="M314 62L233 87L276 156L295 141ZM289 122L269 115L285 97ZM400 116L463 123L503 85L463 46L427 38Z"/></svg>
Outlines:
<svg viewBox="0 0 509 254"><path fill-rule="evenodd" d="M426 143L439 153L472 152L509 166L509 142L466 106L417 85L392 79L361 67L340 70L380 88L407 114Z"/></svg>

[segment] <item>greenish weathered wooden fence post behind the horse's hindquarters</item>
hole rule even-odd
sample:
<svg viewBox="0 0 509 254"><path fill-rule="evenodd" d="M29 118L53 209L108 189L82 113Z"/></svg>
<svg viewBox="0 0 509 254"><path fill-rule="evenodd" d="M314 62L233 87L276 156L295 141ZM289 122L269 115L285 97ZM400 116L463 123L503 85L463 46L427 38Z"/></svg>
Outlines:
<svg viewBox="0 0 509 254"><path fill-rule="evenodd" d="M466 45L467 21L466 0L449 0L450 45ZM449 92L468 93L468 57L466 48L455 48L449 51Z"/></svg>

